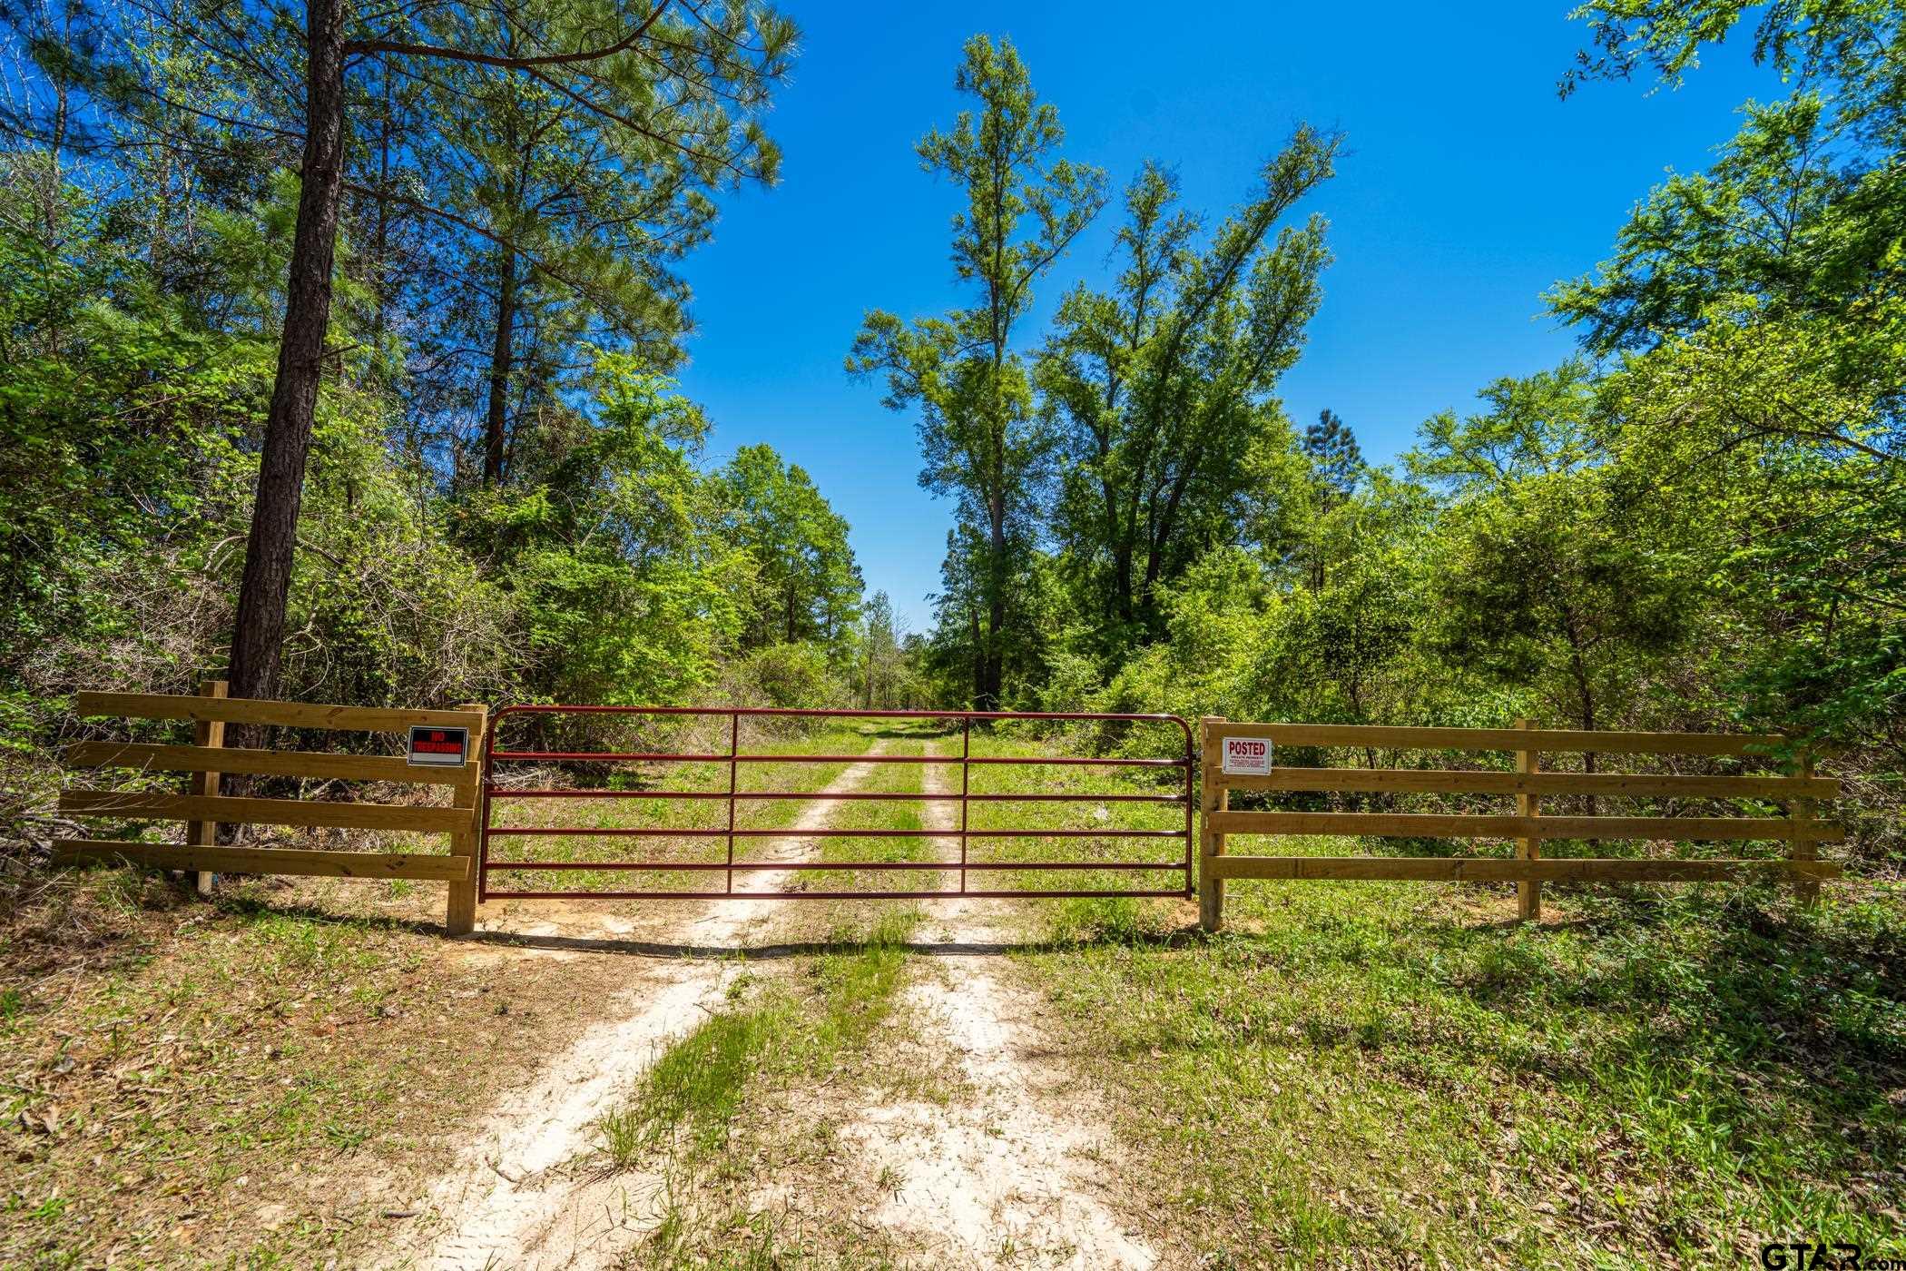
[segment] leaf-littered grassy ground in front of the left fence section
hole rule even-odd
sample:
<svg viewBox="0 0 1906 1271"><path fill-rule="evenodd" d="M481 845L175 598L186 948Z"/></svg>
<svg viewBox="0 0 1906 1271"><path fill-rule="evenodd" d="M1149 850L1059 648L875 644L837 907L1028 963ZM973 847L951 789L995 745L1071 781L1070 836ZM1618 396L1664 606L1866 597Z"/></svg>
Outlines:
<svg viewBox="0 0 1906 1271"><path fill-rule="evenodd" d="M204 903L93 869L34 915L0 951L4 1265L349 1263L461 1120L627 981L585 958L497 974L507 949L444 941L440 888L402 882Z"/></svg>

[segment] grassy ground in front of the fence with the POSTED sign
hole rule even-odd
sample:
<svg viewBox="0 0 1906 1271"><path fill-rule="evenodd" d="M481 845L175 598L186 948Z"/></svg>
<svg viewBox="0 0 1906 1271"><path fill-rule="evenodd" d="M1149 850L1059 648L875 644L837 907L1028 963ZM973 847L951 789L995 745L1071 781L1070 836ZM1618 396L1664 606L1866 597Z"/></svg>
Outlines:
<svg viewBox="0 0 1906 1271"><path fill-rule="evenodd" d="M1233 884L1216 939L1075 901L1029 966L1214 1265L1906 1241L1896 890L1500 892Z"/></svg>

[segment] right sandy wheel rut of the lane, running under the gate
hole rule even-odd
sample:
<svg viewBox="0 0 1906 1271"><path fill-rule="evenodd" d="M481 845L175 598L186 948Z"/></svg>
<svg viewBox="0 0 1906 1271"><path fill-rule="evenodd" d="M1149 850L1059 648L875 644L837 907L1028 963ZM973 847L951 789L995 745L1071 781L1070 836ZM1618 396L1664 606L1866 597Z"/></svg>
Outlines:
<svg viewBox="0 0 1906 1271"><path fill-rule="evenodd" d="M928 751L932 753L932 751ZM924 791L951 793L934 764ZM928 831L957 831L951 804L928 802ZM959 838L938 838L959 859ZM938 938L1004 943L1014 901L926 901ZM1115 1208L1117 1143L1098 1092L1048 1058L1043 997L1003 955L940 958L909 1000L959 1054L978 1098L863 1109L842 1138L869 1181L898 1176L867 1218L924 1242L930 1265L1155 1267L1159 1254Z"/></svg>

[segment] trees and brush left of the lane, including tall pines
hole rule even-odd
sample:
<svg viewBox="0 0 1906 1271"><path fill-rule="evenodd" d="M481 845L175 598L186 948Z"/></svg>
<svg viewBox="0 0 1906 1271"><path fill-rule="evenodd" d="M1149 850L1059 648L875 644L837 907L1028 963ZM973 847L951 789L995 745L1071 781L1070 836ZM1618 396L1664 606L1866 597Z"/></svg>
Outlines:
<svg viewBox="0 0 1906 1271"><path fill-rule="evenodd" d="M917 699L797 463L709 463L682 259L764 4L0 8L0 749L82 686ZM10 785L13 785L10 781Z"/></svg>

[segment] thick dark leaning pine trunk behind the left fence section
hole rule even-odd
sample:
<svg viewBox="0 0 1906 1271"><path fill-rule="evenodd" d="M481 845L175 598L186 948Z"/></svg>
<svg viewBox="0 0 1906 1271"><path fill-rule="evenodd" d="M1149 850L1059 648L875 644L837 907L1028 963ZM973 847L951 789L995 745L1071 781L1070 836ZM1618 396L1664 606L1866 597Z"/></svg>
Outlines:
<svg viewBox="0 0 1906 1271"><path fill-rule="evenodd" d="M252 507L252 535L246 541L238 615L233 623L233 697L271 697L278 692L297 509L324 373L324 333L332 318L332 259L337 250L337 200L343 185L343 0L311 0L307 44L303 189L292 238L278 379L265 417L257 501Z"/></svg>

